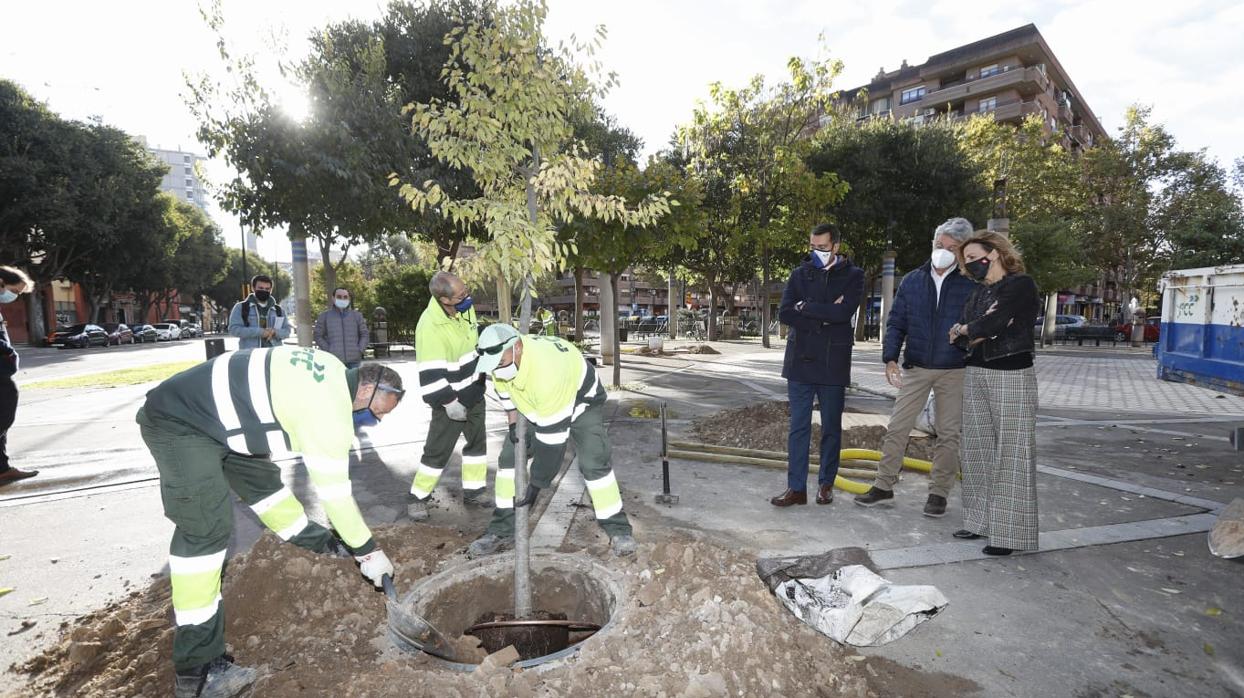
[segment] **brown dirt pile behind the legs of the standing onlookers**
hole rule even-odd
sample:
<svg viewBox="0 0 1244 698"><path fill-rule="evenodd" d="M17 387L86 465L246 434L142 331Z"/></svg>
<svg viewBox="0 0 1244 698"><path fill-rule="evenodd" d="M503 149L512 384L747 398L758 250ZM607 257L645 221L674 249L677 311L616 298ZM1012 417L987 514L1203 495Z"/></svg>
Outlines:
<svg viewBox="0 0 1244 698"><path fill-rule="evenodd" d="M851 412L850 409L847 412ZM760 450L786 450L790 429L790 404L784 401L760 402L724 409L697 419L692 430L704 443ZM842 448L867 448L881 450L884 427L852 427L842 430ZM820 453L821 427L812 424L812 453ZM934 439L911 439L907 455L931 460Z"/></svg>

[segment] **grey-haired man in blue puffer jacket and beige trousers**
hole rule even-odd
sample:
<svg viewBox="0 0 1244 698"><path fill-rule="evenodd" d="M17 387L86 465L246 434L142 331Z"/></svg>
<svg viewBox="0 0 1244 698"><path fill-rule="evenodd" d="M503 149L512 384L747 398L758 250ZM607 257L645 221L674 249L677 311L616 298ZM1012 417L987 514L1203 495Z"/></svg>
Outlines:
<svg viewBox="0 0 1244 698"><path fill-rule="evenodd" d="M963 422L963 367L968 355L947 341L950 327L959 320L963 304L975 284L959 274L955 251L972 236L972 224L952 218L933 234L933 254L923 266L903 276L894 295L894 306L886 322L881 358L886 379L898 388L898 399L889 416L886 438L881 442L881 463L872 488L855 498L861 506L893 501L894 484L903 467L903 454L912 427L919 417L929 391L933 391L933 472L924 503L926 516L944 516L947 496L959 473L959 426ZM903 348L902 370L898 352Z"/></svg>

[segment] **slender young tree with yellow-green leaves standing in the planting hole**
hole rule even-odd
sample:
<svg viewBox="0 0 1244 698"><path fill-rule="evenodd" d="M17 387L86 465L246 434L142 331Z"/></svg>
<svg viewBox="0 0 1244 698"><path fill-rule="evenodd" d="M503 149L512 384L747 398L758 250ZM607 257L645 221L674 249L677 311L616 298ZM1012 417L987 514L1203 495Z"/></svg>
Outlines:
<svg viewBox="0 0 1244 698"><path fill-rule="evenodd" d="M618 197L593 194L601 164L585 157L573 138L572 116L590 108L613 83L597 83L581 63L605 37L598 27L587 44L549 46L547 6L522 0L496 10L490 24L464 19L445 36L449 61L442 76L455 101L407 106L412 131L455 169L470 172L473 198L453 198L433 180L389 184L415 212L434 210L458 226L481 225L489 240L468 265L483 265L506 282L524 281L520 327L531 321L531 275L549 271L573 243L559 244L555 224L576 216L644 225L668 213L662 197L636 208ZM592 70L598 63L591 63ZM503 301L505 302L505 301ZM526 421L518 416L515 463L526 463ZM526 489L526 469L515 468L515 491ZM515 616L531 612L527 584L526 509L515 509Z"/></svg>

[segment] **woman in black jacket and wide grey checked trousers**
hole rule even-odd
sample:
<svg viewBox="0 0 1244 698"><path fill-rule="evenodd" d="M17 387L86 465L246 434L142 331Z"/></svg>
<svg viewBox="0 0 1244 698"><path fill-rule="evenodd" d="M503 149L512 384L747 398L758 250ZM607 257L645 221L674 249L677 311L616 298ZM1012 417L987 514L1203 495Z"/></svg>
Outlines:
<svg viewBox="0 0 1244 698"><path fill-rule="evenodd" d="M989 539L986 555L1037 549L1036 282L1005 236L978 231L959 248L968 296L950 342L969 351L963 381L962 539Z"/></svg>

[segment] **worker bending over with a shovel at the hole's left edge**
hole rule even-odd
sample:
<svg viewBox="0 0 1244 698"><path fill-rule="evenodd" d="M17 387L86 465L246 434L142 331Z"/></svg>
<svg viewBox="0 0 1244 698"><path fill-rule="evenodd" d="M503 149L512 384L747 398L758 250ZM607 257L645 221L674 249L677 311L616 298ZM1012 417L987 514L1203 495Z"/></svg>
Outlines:
<svg viewBox="0 0 1244 698"><path fill-rule="evenodd" d="M350 450L356 428L376 424L403 394L392 368L347 371L331 353L297 347L226 353L147 393L137 422L159 470L164 515L177 526L168 566L178 698L231 697L258 678L225 654L220 577L230 490L281 540L352 556L377 587L393 574L351 494ZM307 520L274 452L301 453L336 536Z"/></svg>

